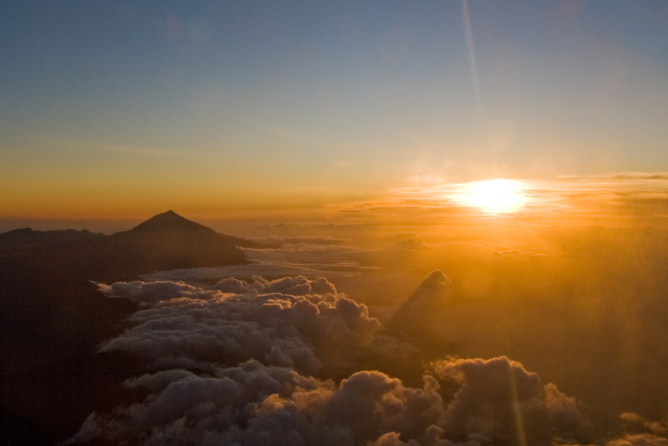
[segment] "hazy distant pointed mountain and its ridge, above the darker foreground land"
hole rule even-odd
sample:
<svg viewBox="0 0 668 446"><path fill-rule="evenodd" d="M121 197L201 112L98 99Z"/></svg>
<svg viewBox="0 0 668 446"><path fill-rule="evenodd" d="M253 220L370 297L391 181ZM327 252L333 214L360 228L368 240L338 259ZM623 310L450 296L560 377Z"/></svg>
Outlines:
<svg viewBox="0 0 668 446"><path fill-rule="evenodd" d="M138 279L160 270L244 265L241 248L271 248L219 234L169 210L111 236L89 231L15 229L0 234L4 259L23 265L67 267L94 281Z"/></svg>

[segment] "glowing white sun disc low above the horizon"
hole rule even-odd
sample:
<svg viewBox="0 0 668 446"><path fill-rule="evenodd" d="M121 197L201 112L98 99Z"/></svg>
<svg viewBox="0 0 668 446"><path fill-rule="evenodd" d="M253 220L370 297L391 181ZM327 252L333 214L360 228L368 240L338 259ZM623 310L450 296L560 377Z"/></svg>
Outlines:
<svg viewBox="0 0 668 446"><path fill-rule="evenodd" d="M521 181L502 178L462 184L451 198L488 214L518 212L527 203Z"/></svg>

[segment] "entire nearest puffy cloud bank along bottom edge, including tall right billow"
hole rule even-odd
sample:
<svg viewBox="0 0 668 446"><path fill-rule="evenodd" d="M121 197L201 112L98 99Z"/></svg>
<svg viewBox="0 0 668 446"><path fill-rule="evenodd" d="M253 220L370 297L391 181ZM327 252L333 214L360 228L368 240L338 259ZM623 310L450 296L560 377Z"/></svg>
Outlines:
<svg viewBox="0 0 668 446"><path fill-rule="evenodd" d="M510 364L505 358L479 361L481 370L495 369L503 362ZM210 376L183 370L159 371L125 384L150 390L145 400L118 409L113 416L91 414L72 442L414 446L514 443L519 435L514 431L518 426L513 422L515 406L510 400L499 400L498 395L507 390L503 380L492 371L492 383L482 383L484 372L470 376L468 370L462 371L468 365L454 362L436 367L437 374L447 373L444 369L452 367L463 376L461 389L450 402L444 402L439 382L430 375L425 375L423 388L411 388L379 371L359 371L337 386L333 381L255 360L219 368ZM575 420L580 419L572 400L555 388L536 393L536 378L519 364L515 369L520 371L517 377L528 380L528 384L521 381L518 386L520 413L530 421L525 423L527 432L546 428L540 435L527 435L532 441L527 444L548 445L555 435L571 433L572 429L565 427L573 421L569 418L573 416L571 412ZM473 416L473 423L460 423L465 416ZM505 424L508 421L510 424Z"/></svg>

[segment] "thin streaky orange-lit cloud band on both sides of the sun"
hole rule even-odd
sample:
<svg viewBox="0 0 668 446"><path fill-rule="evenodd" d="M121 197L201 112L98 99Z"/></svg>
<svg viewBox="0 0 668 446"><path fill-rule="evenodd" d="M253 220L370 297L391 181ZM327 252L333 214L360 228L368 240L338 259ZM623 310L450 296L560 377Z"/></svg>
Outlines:
<svg viewBox="0 0 668 446"><path fill-rule="evenodd" d="M617 172L600 176L571 176L546 180L514 180L513 193L522 206L495 218L559 219L597 217L651 220L668 224L668 173ZM435 184L390 189L370 200L330 205L326 212L342 219L384 219L385 222L442 222L463 217L489 217L475 205L465 205L468 184ZM476 200L469 200L475 203ZM483 200L484 201L484 200Z"/></svg>

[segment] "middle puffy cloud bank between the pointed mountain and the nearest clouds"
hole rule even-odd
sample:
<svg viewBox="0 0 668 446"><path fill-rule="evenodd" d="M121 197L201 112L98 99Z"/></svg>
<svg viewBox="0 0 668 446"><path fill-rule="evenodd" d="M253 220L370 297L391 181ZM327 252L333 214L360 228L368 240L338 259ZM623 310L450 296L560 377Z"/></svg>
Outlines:
<svg viewBox="0 0 668 446"><path fill-rule="evenodd" d="M354 369L359 357L380 348L380 322L326 279L224 279L210 289L136 281L100 288L158 300L136 312L133 327L101 349L141 355L153 367L207 369L214 362L255 358L314 374Z"/></svg>

